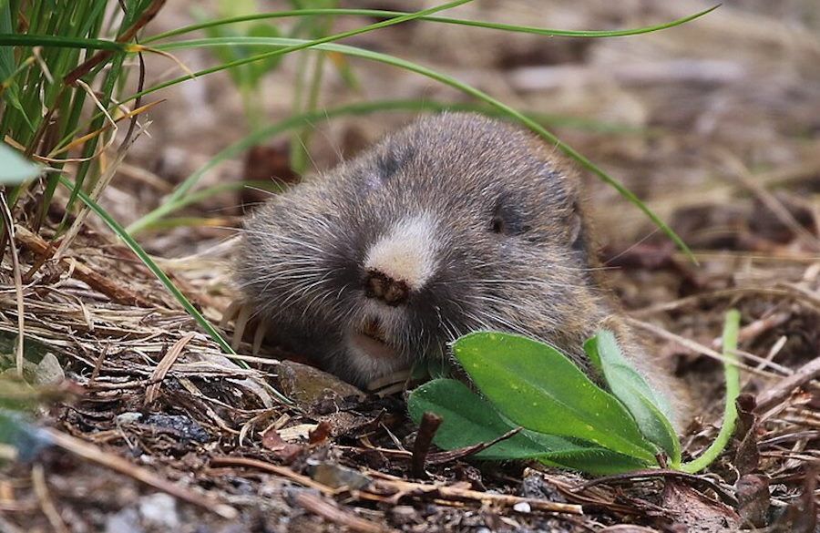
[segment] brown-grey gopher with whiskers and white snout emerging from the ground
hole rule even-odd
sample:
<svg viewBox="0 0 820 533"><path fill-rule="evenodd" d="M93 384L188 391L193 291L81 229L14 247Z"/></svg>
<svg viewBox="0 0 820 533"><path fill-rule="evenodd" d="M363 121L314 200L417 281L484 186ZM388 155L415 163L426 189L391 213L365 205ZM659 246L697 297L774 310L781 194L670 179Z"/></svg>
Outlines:
<svg viewBox="0 0 820 533"><path fill-rule="evenodd" d="M579 179L554 151L491 118L422 118L253 212L245 302L281 345L354 384L477 330L543 340L592 373L582 344L606 326L667 392L600 287Z"/></svg>

